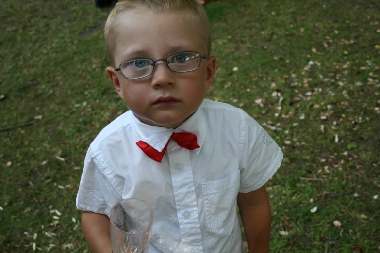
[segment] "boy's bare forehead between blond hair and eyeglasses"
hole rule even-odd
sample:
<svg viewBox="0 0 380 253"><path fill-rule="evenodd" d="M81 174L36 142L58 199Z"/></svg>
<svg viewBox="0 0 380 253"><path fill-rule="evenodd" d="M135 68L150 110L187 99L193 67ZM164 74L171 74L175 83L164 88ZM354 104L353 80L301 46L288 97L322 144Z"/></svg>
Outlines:
<svg viewBox="0 0 380 253"><path fill-rule="evenodd" d="M133 57L165 58L179 51L205 53L204 40L182 11L129 11L116 22L116 64Z"/></svg>

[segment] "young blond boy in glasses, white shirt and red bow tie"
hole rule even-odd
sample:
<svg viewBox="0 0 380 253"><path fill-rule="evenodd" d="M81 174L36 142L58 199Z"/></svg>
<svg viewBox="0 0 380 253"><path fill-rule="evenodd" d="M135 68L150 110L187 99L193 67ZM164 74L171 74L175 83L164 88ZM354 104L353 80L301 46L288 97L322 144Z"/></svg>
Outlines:
<svg viewBox="0 0 380 253"><path fill-rule="evenodd" d="M247 113L204 99L215 74L196 0L119 0L105 25L107 73L129 111L91 143L77 208L95 253L110 253L110 209L152 206L149 253L269 252L264 183L283 158Z"/></svg>

